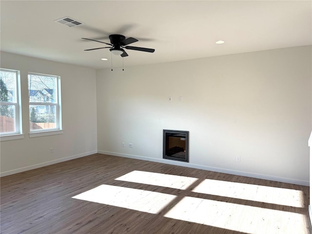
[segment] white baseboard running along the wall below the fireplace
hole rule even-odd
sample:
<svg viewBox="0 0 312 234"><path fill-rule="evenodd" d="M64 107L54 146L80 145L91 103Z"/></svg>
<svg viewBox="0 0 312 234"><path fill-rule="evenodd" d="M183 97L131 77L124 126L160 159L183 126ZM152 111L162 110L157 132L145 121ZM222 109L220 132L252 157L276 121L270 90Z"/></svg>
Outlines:
<svg viewBox="0 0 312 234"><path fill-rule="evenodd" d="M152 161L152 162L166 163L166 164L171 164L171 165L176 165L176 166L191 167L195 169L202 169L202 170L212 171L212 172L226 173L226 174L231 174L231 175L236 175L236 176L247 176L247 177L258 178L258 179L273 180L273 181L278 181L278 182L283 182L283 183L310 186L310 182L306 180L298 180L298 179L285 178L285 177L279 177L279 176L235 171L235 170L230 170L230 169L225 169L225 168L209 167L209 166L197 165L197 164L192 164L188 162L180 162L180 161L168 160L168 159L162 159L162 158L159 159L159 158L152 158L152 157L127 155L127 154L120 154L120 153L107 152L107 151L98 151L98 154L128 157L128 158L141 159L141 160Z"/></svg>

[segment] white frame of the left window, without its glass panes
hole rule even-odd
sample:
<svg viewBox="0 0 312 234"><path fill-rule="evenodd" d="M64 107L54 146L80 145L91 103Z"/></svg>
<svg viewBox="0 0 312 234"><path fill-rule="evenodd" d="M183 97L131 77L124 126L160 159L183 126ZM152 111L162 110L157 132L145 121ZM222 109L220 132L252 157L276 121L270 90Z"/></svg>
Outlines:
<svg viewBox="0 0 312 234"><path fill-rule="evenodd" d="M0 141L14 140L24 138L22 133L22 117L21 117L21 94L20 94L20 71L13 69L0 68L0 71L15 73L16 97L13 101L0 101L0 105L15 106L15 132L0 133Z"/></svg>

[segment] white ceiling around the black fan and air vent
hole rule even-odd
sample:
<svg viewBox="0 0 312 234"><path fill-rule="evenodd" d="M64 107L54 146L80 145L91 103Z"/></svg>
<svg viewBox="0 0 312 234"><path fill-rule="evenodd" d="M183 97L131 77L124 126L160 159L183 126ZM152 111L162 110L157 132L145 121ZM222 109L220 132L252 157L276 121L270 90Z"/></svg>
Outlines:
<svg viewBox="0 0 312 234"><path fill-rule="evenodd" d="M84 24L54 22L65 16ZM1 0L0 20L1 51L96 69L111 67L111 53L83 51L105 45L81 38L122 34L156 50L127 50L125 67L312 44L311 0Z"/></svg>

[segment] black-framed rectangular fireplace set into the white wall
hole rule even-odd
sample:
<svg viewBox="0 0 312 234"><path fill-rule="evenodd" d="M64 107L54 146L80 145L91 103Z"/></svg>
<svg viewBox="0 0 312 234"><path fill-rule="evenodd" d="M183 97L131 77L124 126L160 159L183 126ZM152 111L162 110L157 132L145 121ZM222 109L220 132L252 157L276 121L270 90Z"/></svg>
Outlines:
<svg viewBox="0 0 312 234"><path fill-rule="evenodd" d="M189 132L163 130L163 158L189 162Z"/></svg>

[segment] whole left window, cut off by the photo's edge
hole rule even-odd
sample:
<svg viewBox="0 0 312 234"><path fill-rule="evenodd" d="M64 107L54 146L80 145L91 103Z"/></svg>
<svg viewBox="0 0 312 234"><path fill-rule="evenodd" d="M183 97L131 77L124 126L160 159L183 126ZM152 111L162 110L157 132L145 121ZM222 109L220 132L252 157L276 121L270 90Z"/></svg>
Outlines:
<svg viewBox="0 0 312 234"><path fill-rule="evenodd" d="M21 135L20 74L18 71L0 69L0 135ZM20 137L18 137L20 138Z"/></svg>

